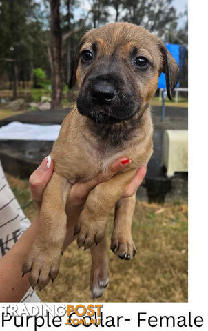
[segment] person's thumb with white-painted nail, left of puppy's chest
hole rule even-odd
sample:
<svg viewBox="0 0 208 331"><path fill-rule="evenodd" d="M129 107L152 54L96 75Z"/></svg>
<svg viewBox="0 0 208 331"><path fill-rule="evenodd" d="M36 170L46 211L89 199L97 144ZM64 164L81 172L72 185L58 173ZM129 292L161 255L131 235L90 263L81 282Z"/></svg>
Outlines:
<svg viewBox="0 0 208 331"><path fill-rule="evenodd" d="M48 183L52 172L54 170L54 164L50 156L45 157L39 167L32 172L29 183L32 199L39 204L42 199L43 190Z"/></svg>

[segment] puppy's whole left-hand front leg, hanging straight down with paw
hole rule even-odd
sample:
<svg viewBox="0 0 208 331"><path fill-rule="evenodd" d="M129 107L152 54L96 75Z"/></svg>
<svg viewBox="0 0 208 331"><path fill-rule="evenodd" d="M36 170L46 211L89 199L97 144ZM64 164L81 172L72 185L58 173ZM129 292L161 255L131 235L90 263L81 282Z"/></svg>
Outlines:
<svg viewBox="0 0 208 331"><path fill-rule="evenodd" d="M66 234L65 203L69 190L70 183L54 172L43 192L39 232L22 268L23 274L30 272L32 288L38 285L41 290L59 272Z"/></svg>

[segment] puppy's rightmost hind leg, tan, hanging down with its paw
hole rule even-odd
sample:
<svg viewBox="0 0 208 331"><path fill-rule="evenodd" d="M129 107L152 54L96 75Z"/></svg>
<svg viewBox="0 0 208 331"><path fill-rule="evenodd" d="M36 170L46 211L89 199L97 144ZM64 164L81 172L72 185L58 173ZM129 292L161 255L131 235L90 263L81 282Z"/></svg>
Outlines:
<svg viewBox="0 0 208 331"><path fill-rule="evenodd" d="M110 248L120 259L131 260L136 254L136 248L132 239L132 217L135 201L136 193L132 197L121 198L116 203L114 230Z"/></svg>

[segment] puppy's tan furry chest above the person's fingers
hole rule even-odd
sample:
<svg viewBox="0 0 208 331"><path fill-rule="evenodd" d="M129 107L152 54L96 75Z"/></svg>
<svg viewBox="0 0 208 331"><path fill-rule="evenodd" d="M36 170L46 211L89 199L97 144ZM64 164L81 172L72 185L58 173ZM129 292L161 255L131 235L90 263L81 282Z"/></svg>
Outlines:
<svg viewBox="0 0 208 331"><path fill-rule="evenodd" d="M79 138L79 139L78 139ZM76 135L74 139L58 139L54 143L52 159L55 161L55 171L71 183L88 181L107 168L118 158L128 157L132 163L123 171L145 165L151 155L147 141L143 143L127 143L127 146L104 148L97 141L83 139Z"/></svg>

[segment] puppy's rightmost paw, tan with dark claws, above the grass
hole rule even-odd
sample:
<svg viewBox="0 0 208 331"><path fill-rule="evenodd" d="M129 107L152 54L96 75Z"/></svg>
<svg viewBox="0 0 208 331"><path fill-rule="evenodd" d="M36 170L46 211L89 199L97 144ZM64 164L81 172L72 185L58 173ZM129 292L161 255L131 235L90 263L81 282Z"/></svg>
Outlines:
<svg viewBox="0 0 208 331"><path fill-rule="evenodd" d="M136 254L136 247L132 235L122 237L121 235L113 234L110 248L120 259L131 260Z"/></svg>

